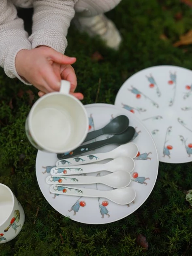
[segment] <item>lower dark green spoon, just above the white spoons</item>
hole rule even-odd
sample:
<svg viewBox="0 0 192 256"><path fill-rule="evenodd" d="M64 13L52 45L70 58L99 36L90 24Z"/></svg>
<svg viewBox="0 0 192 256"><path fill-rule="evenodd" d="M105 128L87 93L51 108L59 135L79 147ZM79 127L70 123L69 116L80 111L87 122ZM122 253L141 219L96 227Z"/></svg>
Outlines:
<svg viewBox="0 0 192 256"><path fill-rule="evenodd" d="M100 148L102 146L108 145L108 144L114 144L114 145L122 145L125 143L128 143L132 140L135 133L135 129L132 126L129 126L124 132L114 135L113 137L109 139L104 139L102 141L96 141L93 143L89 143L86 145L82 145L79 148L76 148L73 150L73 152L70 152L70 156L68 154L58 154L58 159L65 159L69 157L73 157L91 150L94 150L96 148Z"/></svg>

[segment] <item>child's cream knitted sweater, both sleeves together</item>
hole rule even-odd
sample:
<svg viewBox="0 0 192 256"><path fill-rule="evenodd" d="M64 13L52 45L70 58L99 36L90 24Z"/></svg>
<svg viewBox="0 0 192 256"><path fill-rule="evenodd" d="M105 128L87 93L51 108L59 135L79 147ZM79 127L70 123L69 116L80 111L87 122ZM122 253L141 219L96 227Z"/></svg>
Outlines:
<svg viewBox="0 0 192 256"><path fill-rule="evenodd" d="M0 66L7 76L26 83L15 68L15 57L22 49L45 45L64 53L75 2L77 0L0 0ZM17 17L15 6L34 8L30 37L24 30L23 20Z"/></svg>

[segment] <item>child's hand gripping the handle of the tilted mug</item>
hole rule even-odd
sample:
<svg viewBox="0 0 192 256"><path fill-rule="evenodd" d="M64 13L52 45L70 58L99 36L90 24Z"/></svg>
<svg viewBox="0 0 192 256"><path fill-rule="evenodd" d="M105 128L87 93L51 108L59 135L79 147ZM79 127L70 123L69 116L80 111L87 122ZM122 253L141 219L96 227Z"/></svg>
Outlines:
<svg viewBox="0 0 192 256"><path fill-rule="evenodd" d="M70 64L75 61L76 58L70 58L52 48L41 46L32 50L19 51L15 66L19 76L40 90L39 96L59 91L61 79L65 79L71 83L70 93L82 100L81 93L73 93L77 86L77 78Z"/></svg>

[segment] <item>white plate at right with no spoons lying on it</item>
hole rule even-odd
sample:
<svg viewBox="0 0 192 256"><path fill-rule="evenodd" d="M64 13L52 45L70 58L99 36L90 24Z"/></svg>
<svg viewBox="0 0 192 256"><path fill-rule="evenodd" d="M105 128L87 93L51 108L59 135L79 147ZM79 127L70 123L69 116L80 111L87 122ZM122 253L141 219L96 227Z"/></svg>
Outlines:
<svg viewBox="0 0 192 256"><path fill-rule="evenodd" d="M143 69L124 82L115 106L141 119L154 137L159 161L192 161L192 71L175 66Z"/></svg>

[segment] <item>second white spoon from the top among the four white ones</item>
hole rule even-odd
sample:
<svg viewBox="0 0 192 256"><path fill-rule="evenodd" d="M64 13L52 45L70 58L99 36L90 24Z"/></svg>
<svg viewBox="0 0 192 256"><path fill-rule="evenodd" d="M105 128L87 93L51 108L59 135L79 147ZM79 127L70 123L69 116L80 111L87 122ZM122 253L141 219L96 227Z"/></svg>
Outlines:
<svg viewBox="0 0 192 256"><path fill-rule="evenodd" d="M74 174L87 174L96 171L127 171L134 169L134 160L129 156L119 156L105 164L87 164L74 165L70 167L53 167L51 169L52 176L64 176Z"/></svg>

